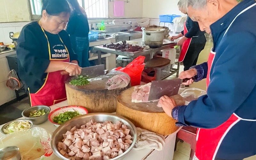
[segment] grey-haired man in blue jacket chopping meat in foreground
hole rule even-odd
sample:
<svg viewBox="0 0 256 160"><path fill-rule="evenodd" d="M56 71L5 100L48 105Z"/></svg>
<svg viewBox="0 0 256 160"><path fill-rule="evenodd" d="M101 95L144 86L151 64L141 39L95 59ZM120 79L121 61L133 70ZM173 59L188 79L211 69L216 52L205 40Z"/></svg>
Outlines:
<svg viewBox="0 0 256 160"><path fill-rule="evenodd" d="M206 78L207 94L187 106L159 104L178 126L198 127L195 160L242 160L256 154L256 2L186 0L188 16L211 33L208 62L180 73ZM184 85L191 84L192 79Z"/></svg>

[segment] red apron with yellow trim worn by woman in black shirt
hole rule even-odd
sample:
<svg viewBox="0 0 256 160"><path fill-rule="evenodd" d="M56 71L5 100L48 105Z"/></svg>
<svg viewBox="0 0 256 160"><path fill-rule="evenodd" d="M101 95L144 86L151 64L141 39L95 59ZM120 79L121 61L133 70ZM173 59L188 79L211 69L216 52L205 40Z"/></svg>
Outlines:
<svg viewBox="0 0 256 160"><path fill-rule="evenodd" d="M39 24L40 24L40 21L39 21ZM40 24L40 26L41 26L41 24ZM44 29L42 27L41 27L41 29L44 32ZM58 60L58 61L62 61L62 62L70 62L68 49L67 49L66 45L63 43L61 38L60 38L60 41L63 43L68 56L63 59L51 58L50 43L49 43L48 37L45 34L45 32L44 32L44 35L48 42L50 61ZM68 78L68 75L61 75L60 72L61 71L47 73L47 76L46 76L43 86L36 93L34 93L34 94L29 93L31 106L36 106L36 105L52 106L56 103L65 101L67 99L65 81ZM29 90L29 88L28 88L28 90Z"/></svg>

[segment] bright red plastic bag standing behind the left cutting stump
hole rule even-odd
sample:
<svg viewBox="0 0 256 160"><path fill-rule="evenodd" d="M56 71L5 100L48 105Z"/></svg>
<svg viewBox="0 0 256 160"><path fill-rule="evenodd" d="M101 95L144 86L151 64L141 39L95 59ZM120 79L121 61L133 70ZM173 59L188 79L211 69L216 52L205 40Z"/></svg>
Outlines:
<svg viewBox="0 0 256 160"><path fill-rule="evenodd" d="M129 63L126 67L118 67L115 70L128 74L131 78L132 86L140 85L141 73L144 70L145 66L144 60L144 56L139 56L136 59L134 59L131 63Z"/></svg>

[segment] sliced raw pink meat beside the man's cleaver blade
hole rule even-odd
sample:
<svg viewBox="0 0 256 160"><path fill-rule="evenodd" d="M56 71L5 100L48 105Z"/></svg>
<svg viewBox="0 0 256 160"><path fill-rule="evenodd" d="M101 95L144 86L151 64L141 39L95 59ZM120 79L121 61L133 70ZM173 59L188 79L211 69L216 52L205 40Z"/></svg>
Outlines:
<svg viewBox="0 0 256 160"><path fill-rule="evenodd" d="M148 102L150 87L151 87L151 83L145 84L140 87L135 86L134 92L132 93L132 102L135 102L135 103Z"/></svg>

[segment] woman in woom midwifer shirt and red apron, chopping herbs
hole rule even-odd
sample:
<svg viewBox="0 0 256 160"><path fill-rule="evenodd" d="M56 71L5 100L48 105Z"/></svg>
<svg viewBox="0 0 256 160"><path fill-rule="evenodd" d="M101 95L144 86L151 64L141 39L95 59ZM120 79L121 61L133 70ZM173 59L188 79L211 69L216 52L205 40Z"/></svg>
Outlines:
<svg viewBox="0 0 256 160"><path fill-rule="evenodd" d="M56 7L58 6L58 7ZM65 81L81 73L68 33L70 16L63 0L44 0L42 18L25 25L17 45L20 79L29 90L31 106L52 106L67 99Z"/></svg>

